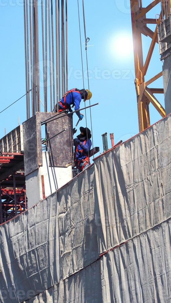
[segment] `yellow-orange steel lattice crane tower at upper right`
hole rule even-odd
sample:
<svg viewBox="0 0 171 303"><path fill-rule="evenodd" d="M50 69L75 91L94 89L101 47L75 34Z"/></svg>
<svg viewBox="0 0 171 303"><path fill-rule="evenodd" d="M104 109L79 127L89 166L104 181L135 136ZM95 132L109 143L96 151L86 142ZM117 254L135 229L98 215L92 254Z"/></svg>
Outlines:
<svg viewBox="0 0 171 303"><path fill-rule="evenodd" d="M149 1L150 2L150 1ZM161 3L161 12L156 19L146 18L146 14L151 11L157 4ZM162 117L165 117L165 109L156 99L154 94L164 93L163 88L148 88L148 85L163 75L160 71L151 79L145 80L147 70L151 61L154 47L158 41L158 25L169 17L171 13L171 1L169 0L154 0L147 7L142 6L142 0L130 0L131 5L131 20L134 45L134 63L135 63L135 88L137 93L138 105L138 123L139 131L142 131L150 126L150 102ZM156 15L157 17L157 15ZM147 24L156 24L153 32ZM151 45L147 53L147 58L143 61L143 44L142 34L151 38Z"/></svg>

